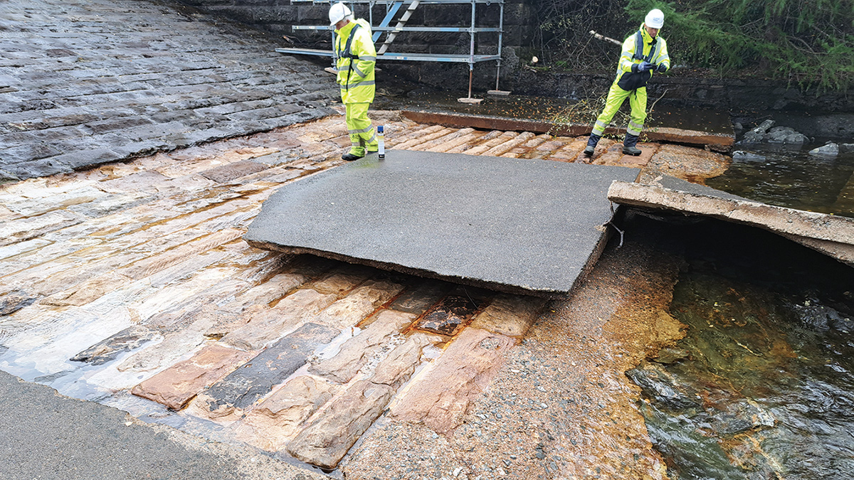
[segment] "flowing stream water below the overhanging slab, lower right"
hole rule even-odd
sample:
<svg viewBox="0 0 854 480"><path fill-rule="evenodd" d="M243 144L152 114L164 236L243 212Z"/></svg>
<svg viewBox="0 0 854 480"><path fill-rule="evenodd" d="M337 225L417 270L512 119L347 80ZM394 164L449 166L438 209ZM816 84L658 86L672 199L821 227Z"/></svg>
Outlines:
<svg viewBox="0 0 854 480"><path fill-rule="evenodd" d="M854 269L740 225L682 234L687 336L627 372L670 476L854 478Z"/></svg>

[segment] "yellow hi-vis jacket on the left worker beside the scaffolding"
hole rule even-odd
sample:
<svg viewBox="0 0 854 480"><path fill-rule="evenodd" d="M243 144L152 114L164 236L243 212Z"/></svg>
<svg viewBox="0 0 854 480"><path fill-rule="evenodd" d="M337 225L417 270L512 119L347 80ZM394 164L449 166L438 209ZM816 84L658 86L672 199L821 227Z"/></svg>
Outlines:
<svg viewBox="0 0 854 480"><path fill-rule="evenodd" d="M371 26L363 19L350 21L336 30L335 54L338 57L338 85L344 103L371 103L376 90L374 67L377 49L371 39Z"/></svg>

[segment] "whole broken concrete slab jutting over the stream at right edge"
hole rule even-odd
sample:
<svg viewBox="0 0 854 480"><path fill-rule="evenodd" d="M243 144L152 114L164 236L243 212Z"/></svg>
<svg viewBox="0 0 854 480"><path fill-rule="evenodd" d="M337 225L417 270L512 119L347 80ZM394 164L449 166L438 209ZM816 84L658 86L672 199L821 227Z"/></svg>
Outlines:
<svg viewBox="0 0 854 480"><path fill-rule="evenodd" d="M854 266L854 219L775 207L672 177L662 177L656 184L615 181L608 199L755 225Z"/></svg>

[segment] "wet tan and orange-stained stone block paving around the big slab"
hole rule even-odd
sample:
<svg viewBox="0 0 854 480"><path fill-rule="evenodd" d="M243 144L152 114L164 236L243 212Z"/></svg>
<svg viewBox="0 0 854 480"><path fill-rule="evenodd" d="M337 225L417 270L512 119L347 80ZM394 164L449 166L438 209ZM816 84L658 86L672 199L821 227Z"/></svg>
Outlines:
<svg viewBox="0 0 854 480"><path fill-rule="evenodd" d="M371 118L389 149L581 160L580 138ZM545 301L243 241L273 191L347 143L338 111L0 185L0 369L325 469L377 424L451 435ZM671 156L649 163L675 173Z"/></svg>

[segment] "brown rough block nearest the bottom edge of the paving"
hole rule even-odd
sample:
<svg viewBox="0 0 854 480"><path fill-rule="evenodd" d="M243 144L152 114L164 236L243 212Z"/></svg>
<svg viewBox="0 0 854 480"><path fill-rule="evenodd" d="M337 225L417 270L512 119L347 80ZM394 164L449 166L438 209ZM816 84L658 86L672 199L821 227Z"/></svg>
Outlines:
<svg viewBox="0 0 854 480"><path fill-rule="evenodd" d="M356 382L302 430L287 449L297 459L323 468L335 468L344 454L383 413L395 389L367 380Z"/></svg>

